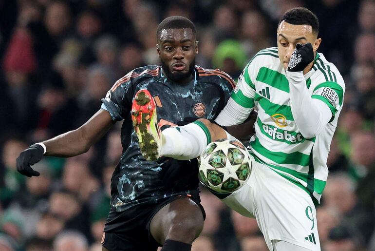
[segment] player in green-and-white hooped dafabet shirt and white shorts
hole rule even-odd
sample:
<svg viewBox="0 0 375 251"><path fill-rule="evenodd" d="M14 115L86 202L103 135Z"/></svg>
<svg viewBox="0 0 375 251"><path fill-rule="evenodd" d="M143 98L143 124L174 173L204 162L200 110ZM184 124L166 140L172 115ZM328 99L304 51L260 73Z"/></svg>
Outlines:
<svg viewBox="0 0 375 251"><path fill-rule="evenodd" d="M278 47L250 60L215 119L219 125L237 125L258 111L248 147L252 173L244 187L221 198L257 219L270 250L320 250L315 205L327 180L345 84L335 65L317 53L318 30L311 11L288 10L278 26ZM168 128L161 136L148 132L157 143L153 158L190 159L210 141L232 137L206 119Z"/></svg>

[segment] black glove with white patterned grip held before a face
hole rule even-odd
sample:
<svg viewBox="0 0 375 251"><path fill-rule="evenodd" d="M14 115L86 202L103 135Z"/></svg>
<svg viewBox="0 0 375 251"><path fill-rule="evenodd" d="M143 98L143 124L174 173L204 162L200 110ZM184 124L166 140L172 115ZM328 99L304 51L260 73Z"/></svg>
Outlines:
<svg viewBox="0 0 375 251"><path fill-rule="evenodd" d="M314 51L311 43L298 43L288 64L289 72L301 72L314 60Z"/></svg>

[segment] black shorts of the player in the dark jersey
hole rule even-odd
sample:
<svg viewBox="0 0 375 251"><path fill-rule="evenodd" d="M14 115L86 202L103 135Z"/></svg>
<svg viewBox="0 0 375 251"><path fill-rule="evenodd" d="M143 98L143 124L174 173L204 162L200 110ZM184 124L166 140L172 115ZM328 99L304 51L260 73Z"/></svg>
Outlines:
<svg viewBox="0 0 375 251"><path fill-rule="evenodd" d="M142 203L123 212L110 211L104 226L103 247L110 251L156 251L161 245L150 233L150 222L160 209L181 197L188 197L199 205L206 218L197 190L166 198L156 204Z"/></svg>

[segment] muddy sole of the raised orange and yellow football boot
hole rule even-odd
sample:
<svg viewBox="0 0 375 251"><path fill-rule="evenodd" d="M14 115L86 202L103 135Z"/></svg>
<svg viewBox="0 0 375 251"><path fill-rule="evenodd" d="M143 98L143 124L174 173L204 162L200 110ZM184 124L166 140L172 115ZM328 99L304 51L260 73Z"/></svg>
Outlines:
<svg viewBox="0 0 375 251"><path fill-rule="evenodd" d="M131 120L138 137L139 147L146 160L160 157L162 134L157 122L155 100L148 90L139 90L131 105Z"/></svg>

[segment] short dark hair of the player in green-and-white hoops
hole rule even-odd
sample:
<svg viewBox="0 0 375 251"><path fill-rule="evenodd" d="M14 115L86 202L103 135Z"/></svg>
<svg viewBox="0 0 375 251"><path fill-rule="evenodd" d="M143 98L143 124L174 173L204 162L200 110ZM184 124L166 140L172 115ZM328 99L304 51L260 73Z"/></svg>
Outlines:
<svg viewBox="0 0 375 251"><path fill-rule="evenodd" d="M319 33L319 20L317 16L309 9L303 7L296 7L285 12L280 19L279 25L282 21L290 24L306 24L313 28L315 34Z"/></svg>

